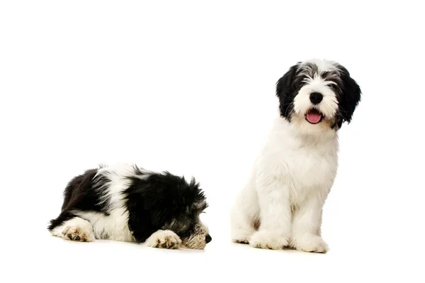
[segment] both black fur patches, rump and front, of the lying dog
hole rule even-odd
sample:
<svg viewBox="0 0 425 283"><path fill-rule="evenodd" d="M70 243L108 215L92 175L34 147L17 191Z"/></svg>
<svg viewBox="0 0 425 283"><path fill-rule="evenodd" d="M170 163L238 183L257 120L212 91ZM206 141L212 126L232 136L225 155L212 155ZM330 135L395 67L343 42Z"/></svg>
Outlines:
<svg viewBox="0 0 425 283"><path fill-rule="evenodd" d="M98 170L87 170L68 183L62 212L50 221L49 231L75 217L75 211L109 215L109 199L105 199L105 192L111 180L107 175L96 176ZM169 172L147 172L136 166L132 170L131 174L121 176L129 184L121 194L135 240L143 243L152 233L164 229L174 231L182 240L190 237L200 213L208 207L205 194L195 179L186 182L184 177Z"/></svg>

